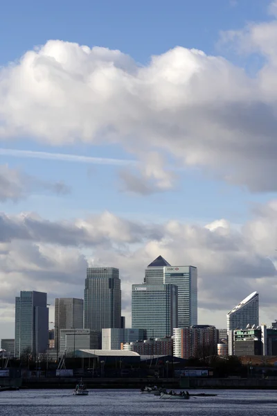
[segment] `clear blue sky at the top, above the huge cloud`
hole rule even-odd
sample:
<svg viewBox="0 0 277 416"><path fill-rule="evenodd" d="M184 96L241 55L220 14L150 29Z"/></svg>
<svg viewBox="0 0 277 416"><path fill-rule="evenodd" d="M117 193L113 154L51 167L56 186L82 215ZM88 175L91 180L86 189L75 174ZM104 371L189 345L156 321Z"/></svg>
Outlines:
<svg viewBox="0 0 277 416"><path fill-rule="evenodd" d="M269 19L268 3L82 0L76 6L73 0L10 1L1 12L0 35L7 38L1 63L17 59L49 39L120 49L143 64L151 55L176 45L215 53L219 31L241 28L247 21Z"/></svg>

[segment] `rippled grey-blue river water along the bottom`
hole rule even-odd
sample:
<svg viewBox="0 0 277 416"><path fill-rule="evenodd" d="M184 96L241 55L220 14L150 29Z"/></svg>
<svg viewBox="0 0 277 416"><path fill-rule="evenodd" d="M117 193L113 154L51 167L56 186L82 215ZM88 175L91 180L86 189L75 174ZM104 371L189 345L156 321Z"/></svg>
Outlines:
<svg viewBox="0 0 277 416"><path fill-rule="evenodd" d="M73 396L71 390L0 392L0 415L277 416L277 391L205 390L205 392L217 393L217 397L195 399L192 397L190 400L167 401L154 395L142 395L138 390L89 390L89 395L82 397Z"/></svg>

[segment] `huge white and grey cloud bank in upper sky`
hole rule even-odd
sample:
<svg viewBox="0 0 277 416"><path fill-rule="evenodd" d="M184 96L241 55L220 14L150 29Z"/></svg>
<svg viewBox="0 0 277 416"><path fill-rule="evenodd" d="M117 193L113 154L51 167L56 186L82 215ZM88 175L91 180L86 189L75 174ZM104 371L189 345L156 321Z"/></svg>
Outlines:
<svg viewBox="0 0 277 416"><path fill-rule="evenodd" d="M141 67L117 50L50 40L1 69L0 137L116 143L139 158L155 151L174 166L276 191L276 28L274 19L226 35L263 56L254 78L180 46ZM132 182L147 193L136 177L126 187Z"/></svg>

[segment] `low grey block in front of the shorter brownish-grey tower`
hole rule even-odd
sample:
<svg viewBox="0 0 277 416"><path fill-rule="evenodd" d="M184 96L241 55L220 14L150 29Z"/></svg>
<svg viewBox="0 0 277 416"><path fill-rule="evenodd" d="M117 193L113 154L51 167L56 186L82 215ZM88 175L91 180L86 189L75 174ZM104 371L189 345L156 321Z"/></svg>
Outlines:
<svg viewBox="0 0 277 416"><path fill-rule="evenodd" d="M78 349L98 349L100 345L100 331L91 329L60 330L60 352L72 354Z"/></svg>

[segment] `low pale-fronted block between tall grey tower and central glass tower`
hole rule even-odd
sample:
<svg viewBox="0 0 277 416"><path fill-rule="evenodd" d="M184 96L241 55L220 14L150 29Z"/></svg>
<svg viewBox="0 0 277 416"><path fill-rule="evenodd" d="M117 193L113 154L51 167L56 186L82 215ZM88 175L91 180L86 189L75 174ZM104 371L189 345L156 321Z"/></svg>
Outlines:
<svg viewBox="0 0 277 416"><path fill-rule="evenodd" d="M121 349L123 343L144 340L145 329L105 328L102 329L102 349Z"/></svg>

